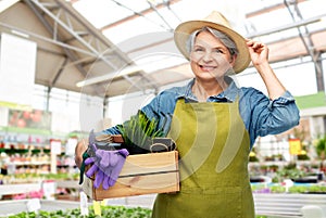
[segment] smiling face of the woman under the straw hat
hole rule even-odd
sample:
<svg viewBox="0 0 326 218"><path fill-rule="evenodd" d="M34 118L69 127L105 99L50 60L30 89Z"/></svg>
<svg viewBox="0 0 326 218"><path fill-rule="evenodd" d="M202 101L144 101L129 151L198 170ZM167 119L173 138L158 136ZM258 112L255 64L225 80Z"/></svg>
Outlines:
<svg viewBox="0 0 326 218"><path fill-rule="evenodd" d="M223 78L235 64L228 49L209 31L201 31L195 39L190 52L190 66L199 79Z"/></svg>

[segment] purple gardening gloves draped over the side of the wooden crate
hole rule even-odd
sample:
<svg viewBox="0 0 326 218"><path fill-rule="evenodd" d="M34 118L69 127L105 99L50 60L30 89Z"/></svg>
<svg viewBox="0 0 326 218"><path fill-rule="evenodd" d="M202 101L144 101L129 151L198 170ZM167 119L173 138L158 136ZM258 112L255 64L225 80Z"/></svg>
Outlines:
<svg viewBox="0 0 326 218"><path fill-rule="evenodd" d="M85 159L85 165L92 164L86 176L96 176L93 182L96 189L102 183L102 188L108 190L115 184L129 152L126 149L116 151L98 150L95 143L90 146L95 151L95 156Z"/></svg>

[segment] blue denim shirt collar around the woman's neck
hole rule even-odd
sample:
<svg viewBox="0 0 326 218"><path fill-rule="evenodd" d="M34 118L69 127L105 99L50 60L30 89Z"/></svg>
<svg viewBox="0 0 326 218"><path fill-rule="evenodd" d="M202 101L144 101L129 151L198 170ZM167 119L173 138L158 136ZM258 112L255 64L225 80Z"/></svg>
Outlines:
<svg viewBox="0 0 326 218"><path fill-rule="evenodd" d="M185 98L188 101L195 101L197 102L197 98L192 93L192 85L195 82L195 78L191 79L186 86L181 87L178 98ZM208 101L227 101L227 102L234 102L237 99L239 88L237 87L236 82L233 78L226 77L226 82L229 84L228 88L218 93L217 95L210 97Z"/></svg>

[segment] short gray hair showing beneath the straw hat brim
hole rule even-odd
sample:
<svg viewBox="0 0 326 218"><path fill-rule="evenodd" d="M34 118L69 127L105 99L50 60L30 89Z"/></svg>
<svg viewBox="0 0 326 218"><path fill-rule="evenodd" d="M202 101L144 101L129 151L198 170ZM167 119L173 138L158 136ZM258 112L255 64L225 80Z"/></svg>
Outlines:
<svg viewBox="0 0 326 218"><path fill-rule="evenodd" d="M239 53L236 43L227 35L225 35L224 33L222 33L217 29L210 28L208 26L204 26L201 29L192 31L192 34L189 36L189 38L186 42L186 49L187 49L188 53L191 52L193 44L195 44L195 39L201 31L209 31L213 36L215 36L217 39L220 39L222 41L222 43L228 49L228 51L231 55Z"/></svg>

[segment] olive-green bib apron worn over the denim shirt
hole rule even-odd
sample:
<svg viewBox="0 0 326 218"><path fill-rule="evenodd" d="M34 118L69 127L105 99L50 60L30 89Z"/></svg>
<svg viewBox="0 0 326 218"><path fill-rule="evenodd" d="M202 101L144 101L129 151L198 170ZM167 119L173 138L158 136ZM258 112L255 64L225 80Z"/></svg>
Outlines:
<svg viewBox="0 0 326 218"><path fill-rule="evenodd" d="M153 218L253 218L249 133L234 103L178 100L168 137L179 152L180 192L158 194Z"/></svg>

